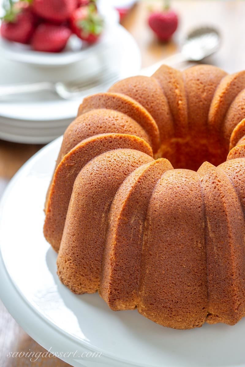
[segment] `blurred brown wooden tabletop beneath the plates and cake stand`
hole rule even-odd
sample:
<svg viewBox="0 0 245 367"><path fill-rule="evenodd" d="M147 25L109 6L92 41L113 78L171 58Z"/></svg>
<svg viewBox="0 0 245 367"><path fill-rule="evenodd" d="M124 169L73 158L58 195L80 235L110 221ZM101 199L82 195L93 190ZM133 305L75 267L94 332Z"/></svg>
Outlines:
<svg viewBox="0 0 245 367"><path fill-rule="evenodd" d="M221 32L222 46L205 62L217 65L230 73L245 68L245 1L173 1L172 7L179 13L180 25L173 40L167 44L159 43L147 26L149 4L157 8L161 6L161 1L138 3L123 21L123 25L140 47L143 66L151 65L177 52L184 34L196 25L215 25ZM19 167L40 148L42 148L41 145L0 141L0 195ZM57 358L40 358L36 362L31 362L25 357L18 360L7 358L9 352L28 352L29 350L44 352L44 349L18 326L0 302L1 367L68 366Z"/></svg>

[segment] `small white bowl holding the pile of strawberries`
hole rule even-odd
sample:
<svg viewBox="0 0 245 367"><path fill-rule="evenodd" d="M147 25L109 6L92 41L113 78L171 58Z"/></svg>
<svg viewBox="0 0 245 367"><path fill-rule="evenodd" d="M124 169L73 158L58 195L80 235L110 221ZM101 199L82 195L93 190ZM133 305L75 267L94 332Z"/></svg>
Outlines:
<svg viewBox="0 0 245 367"><path fill-rule="evenodd" d="M64 66L87 58L91 52L98 52L101 48L107 47L108 37L119 19L118 13L107 0L98 1L98 10L104 18L105 29L101 39L93 45L89 46L73 35L64 51L39 52L33 51L29 45L9 42L0 37L0 53L12 61L41 66Z"/></svg>

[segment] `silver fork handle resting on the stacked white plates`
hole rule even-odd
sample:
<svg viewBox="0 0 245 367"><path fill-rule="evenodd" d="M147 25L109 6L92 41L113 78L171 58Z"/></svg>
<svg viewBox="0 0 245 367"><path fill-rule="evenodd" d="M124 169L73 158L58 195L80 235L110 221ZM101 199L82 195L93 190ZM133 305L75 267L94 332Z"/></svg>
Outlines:
<svg viewBox="0 0 245 367"><path fill-rule="evenodd" d="M0 97L12 94L39 92L43 90L54 90L54 84L48 81L29 84L6 84L0 86Z"/></svg>

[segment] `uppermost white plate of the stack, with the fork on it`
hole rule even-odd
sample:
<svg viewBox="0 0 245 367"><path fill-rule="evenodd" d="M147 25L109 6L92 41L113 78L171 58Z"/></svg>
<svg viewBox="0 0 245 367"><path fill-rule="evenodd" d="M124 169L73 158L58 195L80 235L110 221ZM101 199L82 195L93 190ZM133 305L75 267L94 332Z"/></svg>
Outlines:
<svg viewBox="0 0 245 367"><path fill-rule="evenodd" d="M141 66L141 55L136 41L120 25L115 25L110 44L100 53L91 54L82 62L56 69L31 68L25 64L10 62L0 58L1 84L30 81L68 81L87 75L91 69L106 66L118 73L118 79L135 75ZM108 86L109 87L109 86ZM105 88L106 90L106 88ZM101 90L103 91L103 90ZM87 95L86 92L84 95ZM0 116L16 120L51 121L71 119L76 116L81 98L64 101L53 94L36 93L23 95L9 101L0 100ZM35 124L35 122L33 122ZM58 135L57 135L58 136Z"/></svg>

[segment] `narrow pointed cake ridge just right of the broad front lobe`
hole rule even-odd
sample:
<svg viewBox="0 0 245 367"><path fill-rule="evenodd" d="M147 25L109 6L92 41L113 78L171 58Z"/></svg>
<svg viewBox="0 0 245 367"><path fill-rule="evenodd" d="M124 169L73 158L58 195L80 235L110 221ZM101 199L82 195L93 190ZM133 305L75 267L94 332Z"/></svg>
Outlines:
<svg viewBox="0 0 245 367"><path fill-rule="evenodd" d="M200 167L205 203L208 316L206 322L235 324L244 316L244 215L222 166ZM212 195L210 195L212 193Z"/></svg>

